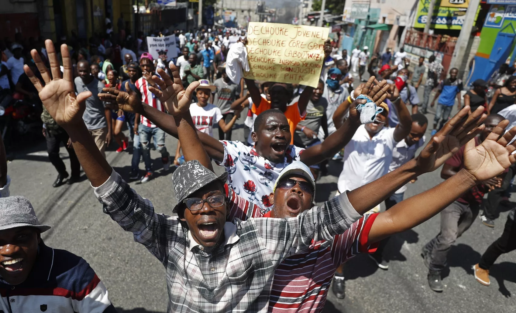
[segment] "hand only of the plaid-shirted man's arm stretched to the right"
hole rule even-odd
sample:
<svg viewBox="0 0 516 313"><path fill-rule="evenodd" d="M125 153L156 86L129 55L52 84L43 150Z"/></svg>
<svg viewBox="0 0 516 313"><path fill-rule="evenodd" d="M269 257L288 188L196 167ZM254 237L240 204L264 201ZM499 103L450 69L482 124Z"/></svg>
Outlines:
<svg viewBox="0 0 516 313"><path fill-rule="evenodd" d="M484 128L480 125L486 119L483 107L470 115L469 107L464 107L444 127L434 135L417 156L417 166L423 172L432 172L453 156L460 147L478 135Z"/></svg>

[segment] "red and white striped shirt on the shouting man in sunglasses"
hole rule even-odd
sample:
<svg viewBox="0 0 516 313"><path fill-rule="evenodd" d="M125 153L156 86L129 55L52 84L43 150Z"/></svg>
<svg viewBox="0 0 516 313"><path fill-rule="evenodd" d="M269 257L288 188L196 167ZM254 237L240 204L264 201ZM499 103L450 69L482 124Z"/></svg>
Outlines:
<svg viewBox="0 0 516 313"><path fill-rule="evenodd" d="M240 197L228 185L225 190L229 199L228 220L270 217L270 211L262 215L258 206ZM378 244L367 245L367 237L377 215L364 215L344 234L336 235L326 249L320 249L324 241L316 241L307 253L286 258L275 271L268 311L321 312L335 270L358 253L376 251Z"/></svg>

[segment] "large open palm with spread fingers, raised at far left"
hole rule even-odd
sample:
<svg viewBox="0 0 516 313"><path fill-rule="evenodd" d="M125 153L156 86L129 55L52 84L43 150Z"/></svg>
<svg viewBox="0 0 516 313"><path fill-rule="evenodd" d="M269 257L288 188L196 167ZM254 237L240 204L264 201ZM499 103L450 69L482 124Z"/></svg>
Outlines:
<svg viewBox="0 0 516 313"><path fill-rule="evenodd" d="M81 92L75 96L72 62L70 59L70 53L68 52L68 46L66 44L61 45L61 55L64 68L63 78L61 78L61 70L59 68L59 62L57 60L52 40L45 40L45 47L49 55L52 77L49 70L41 60L38 52L34 49L30 52L30 55L33 57L33 60L41 73L41 77L45 84L44 87L41 81L34 75L33 71L30 70L27 65L24 65L23 69L38 91L41 102L59 125L67 126L70 124L80 123L82 122L85 110L84 102L89 96L91 96L91 92Z"/></svg>

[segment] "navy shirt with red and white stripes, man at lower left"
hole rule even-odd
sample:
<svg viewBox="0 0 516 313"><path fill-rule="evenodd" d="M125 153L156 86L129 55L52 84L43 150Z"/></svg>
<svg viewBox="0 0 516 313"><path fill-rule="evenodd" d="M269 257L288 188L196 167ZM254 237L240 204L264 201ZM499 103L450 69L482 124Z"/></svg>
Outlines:
<svg viewBox="0 0 516 313"><path fill-rule="evenodd" d="M106 286L89 264L41 240L29 276L19 285L0 277L0 312L116 313Z"/></svg>

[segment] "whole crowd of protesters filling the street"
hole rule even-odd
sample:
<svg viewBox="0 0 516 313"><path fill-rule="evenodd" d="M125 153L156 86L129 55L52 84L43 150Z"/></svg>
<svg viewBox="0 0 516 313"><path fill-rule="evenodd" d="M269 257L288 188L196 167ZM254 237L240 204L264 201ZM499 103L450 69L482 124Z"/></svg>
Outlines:
<svg viewBox="0 0 516 313"><path fill-rule="evenodd" d="M344 298L350 257L367 253L388 270L389 237L438 213L439 234L422 256L429 287L442 292L451 245L477 216L494 227L516 173L513 68L503 65L462 96L458 70L442 79L434 56L412 66L402 49L371 56L367 46L357 46L348 55L327 41L317 86L233 81L227 59L236 54L233 45L246 44L244 30L163 29L153 36L172 34L173 59L166 51L153 58L142 34L125 32L59 45L41 38L0 41L0 88L42 105L43 134L58 172L53 186L78 182L83 168L104 213L165 266L168 311L320 312L330 288ZM357 70L359 85L353 84ZM430 107L436 101L437 107L426 138L432 90ZM246 141L232 140L246 109ZM166 134L179 139L172 155ZM106 147L116 144L124 153L131 142L131 172L122 177L106 161ZM60 143L70 155L70 174ZM126 183L153 178L153 146L165 172L176 167L175 216L156 211L152 199ZM314 196L328 159L344 165L335 196L319 207ZM214 174L212 161L223 174ZM408 183L438 169L443 183L405 199ZM0 291L7 304L0 309L27 308L30 296L39 295L48 298L41 311L115 312L84 259L43 243L40 234L50 226L39 223L28 199L9 196L10 180L2 143ZM516 249L514 210L474 266L480 284L489 286L496 258ZM66 292L51 296L43 287ZM80 300L68 296L79 293Z"/></svg>

